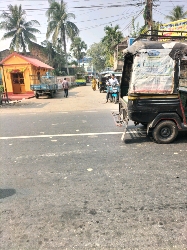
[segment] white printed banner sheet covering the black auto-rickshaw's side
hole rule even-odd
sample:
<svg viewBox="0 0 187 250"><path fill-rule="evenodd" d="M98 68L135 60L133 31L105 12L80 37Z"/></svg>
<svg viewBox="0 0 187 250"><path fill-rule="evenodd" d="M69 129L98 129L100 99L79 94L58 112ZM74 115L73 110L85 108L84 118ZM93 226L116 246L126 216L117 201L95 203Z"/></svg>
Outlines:
<svg viewBox="0 0 187 250"><path fill-rule="evenodd" d="M142 49L134 58L130 93L172 93L174 61L171 49Z"/></svg>

